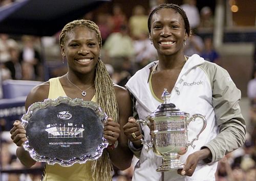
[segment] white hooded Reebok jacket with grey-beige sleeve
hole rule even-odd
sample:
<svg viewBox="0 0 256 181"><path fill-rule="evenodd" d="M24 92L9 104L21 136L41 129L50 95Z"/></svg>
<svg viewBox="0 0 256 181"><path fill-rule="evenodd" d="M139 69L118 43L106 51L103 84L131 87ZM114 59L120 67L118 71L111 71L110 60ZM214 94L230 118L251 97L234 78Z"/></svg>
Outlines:
<svg viewBox="0 0 256 181"><path fill-rule="evenodd" d="M157 63L158 61L155 61L145 66L126 84L127 89L136 98L140 119L145 119L162 103L154 95L151 82L148 82L150 69ZM189 154L202 147L210 149L212 159L208 164L199 162L191 177L181 176L176 170L162 174L163 172L156 171L162 163L162 157L155 155L153 150L147 152L146 146L143 146L142 150L139 150L140 160L135 166L133 181L214 181L217 161L226 153L241 147L245 140L245 121L238 104L241 98L240 90L226 70L195 54L186 61L170 94L170 102L181 111L188 112L190 116L201 114L207 121L199 140L194 142L196 147L188 147L187 152L180 157L181 163L185 163ZM190 122L188 141L196 138L202 125L200 120ZM142 130L145 141L151 143L150 128L144 126ZM130 146L137 153L132 144Z"/></svg>

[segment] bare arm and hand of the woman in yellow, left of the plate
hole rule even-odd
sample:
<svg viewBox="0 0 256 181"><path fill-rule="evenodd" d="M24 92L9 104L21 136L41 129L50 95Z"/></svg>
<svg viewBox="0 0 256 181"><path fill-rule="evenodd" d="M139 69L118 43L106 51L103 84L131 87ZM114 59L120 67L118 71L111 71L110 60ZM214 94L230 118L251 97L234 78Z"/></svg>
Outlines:
<svg viewBox="0 0 256 181"><path fill-rule="evenodd" d="M39 101L44 101L45 99L47 99L48 92L49 84L40 84L34 87L27 97L25 103L26 111L28 110L28 107L31 104ZM26 167L32 167L36 162L30 157L29 153L25 151L25 149L22 147L23 143L27 141L27 138L26 130L24 126L20 125L20 123L20 121L14 122L13 128L10 130L11 139L18 146L16 150L16 155L20 162Z"/></svg>

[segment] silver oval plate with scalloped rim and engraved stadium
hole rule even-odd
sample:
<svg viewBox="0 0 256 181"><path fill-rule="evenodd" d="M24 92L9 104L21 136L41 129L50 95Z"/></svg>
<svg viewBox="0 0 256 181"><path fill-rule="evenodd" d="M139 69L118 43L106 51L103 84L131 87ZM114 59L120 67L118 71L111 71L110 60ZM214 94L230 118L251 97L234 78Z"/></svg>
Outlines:
<svg viewBox="0 0 256 181"><path fill-rule="evenodd" d="M28 141L23 144L37 162L72 166L98 159L108 141L107 116L92 101L58 97L32 104L22 117Z"/></svg>

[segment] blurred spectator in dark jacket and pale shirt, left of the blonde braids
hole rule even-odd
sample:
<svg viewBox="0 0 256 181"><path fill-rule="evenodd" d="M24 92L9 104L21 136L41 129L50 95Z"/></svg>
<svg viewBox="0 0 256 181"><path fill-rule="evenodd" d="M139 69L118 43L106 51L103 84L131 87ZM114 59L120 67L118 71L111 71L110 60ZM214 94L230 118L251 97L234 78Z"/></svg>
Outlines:
<svg viewBox="0 0 256 181"><path fill-rule="evenodd" d="M34 46L31 36L23 36L23 49L19 54L19 62L22 65L24 80L40 80L40 54Z"/></svg>

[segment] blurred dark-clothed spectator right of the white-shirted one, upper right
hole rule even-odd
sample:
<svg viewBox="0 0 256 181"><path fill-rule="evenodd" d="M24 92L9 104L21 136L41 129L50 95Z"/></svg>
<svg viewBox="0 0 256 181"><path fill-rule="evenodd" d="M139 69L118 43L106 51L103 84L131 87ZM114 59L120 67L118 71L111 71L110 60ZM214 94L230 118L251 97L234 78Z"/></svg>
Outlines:
<svg viewBox="0 0 256 181"><path fill-rule="evenodd" d="M212 16L212 11L210 7L205 6L200 11L200 28L213 28L214 27L214 17Z"/></svg>

